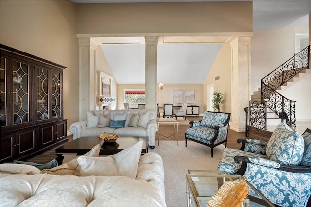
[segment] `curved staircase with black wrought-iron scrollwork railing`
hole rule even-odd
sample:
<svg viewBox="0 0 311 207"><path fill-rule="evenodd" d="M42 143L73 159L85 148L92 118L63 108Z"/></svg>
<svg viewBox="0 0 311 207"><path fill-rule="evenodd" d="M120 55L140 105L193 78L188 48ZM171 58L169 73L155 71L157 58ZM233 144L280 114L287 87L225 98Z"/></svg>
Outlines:
<svg viewBox="0 0 311 207"><path fill-rule="evenodd" d="M293 85L302 74L310 72L309 51L310 46L304 48L261 79L261 88L251 96L249 107L244 108L245 136L251 131L258 133L259 130L267 129L267 120L274 120L274 125L285 120L287 125L296 126L295 101L278 91Z"/></svg>

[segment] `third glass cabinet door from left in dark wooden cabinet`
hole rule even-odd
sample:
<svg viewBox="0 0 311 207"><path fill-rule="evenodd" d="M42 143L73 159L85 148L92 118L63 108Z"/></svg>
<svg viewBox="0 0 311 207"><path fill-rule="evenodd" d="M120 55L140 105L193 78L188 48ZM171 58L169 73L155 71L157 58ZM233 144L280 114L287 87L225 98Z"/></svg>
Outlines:
<svg viewBox="0 0 311 207"><path fill-rule="evenodd" d="M49 120L49 70L36 68L36 118L37 121Z"/></svg>

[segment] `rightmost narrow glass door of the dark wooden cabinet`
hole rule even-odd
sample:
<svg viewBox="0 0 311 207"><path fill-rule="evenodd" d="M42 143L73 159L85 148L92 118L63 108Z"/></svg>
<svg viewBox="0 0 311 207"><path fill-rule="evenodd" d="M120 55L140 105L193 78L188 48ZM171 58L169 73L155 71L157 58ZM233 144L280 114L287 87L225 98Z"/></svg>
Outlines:
<svg viewBox="0 0 311 207"><path fill-rule="evenodd" d="M52 78L52 118L62 116L62 103L61 103L61 72L56 70L51 71Z"/></svg>

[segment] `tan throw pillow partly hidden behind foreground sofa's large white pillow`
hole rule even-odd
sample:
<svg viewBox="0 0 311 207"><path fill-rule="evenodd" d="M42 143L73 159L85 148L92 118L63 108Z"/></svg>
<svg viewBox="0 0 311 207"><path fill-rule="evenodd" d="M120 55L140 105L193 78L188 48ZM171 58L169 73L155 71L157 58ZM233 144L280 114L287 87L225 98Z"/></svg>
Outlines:
<svg viewBox="0 0 311 207"><path fill-rule="evenodd" d="M101 145L97 144L90 151L88 151L86 154L81 155L81 156L86 156L86 157L98 156L100 150L101 150ZM66 175L66 174L79 175L80 166L79 166L77 160L78 160L78 158L75 158L75 159L73 159L73 160L71 160L65 164L59 165L57 167L54 167L51 169L44 169L41 171L41 173L56 174L56 175Z"/></svg>

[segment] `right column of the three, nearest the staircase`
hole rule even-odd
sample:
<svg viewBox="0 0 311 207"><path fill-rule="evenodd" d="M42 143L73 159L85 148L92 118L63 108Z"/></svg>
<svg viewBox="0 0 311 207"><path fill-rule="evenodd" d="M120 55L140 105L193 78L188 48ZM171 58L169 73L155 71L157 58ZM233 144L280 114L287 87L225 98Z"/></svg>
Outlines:
<svg viewBox="0 0 311 207"><path fill-rule="evenodd" d="M231 121L230 129L245 132L245 111L250 100L250 36L237 37L231 45Z"/></svg>

